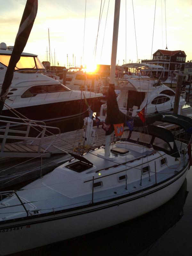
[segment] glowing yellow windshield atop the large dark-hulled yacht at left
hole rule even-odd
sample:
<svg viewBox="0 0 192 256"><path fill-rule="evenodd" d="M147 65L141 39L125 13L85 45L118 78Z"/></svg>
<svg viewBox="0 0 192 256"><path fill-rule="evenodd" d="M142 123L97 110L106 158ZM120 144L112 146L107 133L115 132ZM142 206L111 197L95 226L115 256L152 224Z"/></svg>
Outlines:
<svg viewBox="0 0 192 256"><path fill-rule="evenodd" d="M0 55L0 62L8 66L11 55ZM18 69L45 69L40 60L35 56L21 56L15 70Z"/></svg>

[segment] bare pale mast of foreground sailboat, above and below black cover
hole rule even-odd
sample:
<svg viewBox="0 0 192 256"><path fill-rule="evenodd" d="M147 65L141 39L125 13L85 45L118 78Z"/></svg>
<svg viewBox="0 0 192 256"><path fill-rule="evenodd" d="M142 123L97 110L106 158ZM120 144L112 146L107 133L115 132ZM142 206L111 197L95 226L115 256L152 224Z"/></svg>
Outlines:
<svg viewBox="0 0 192 256"><path fill-rule="evenodd" d="M117 57L120 4L121 4L121 0L115 0L109 86L115 86L115 69L116 69L116 57ZM107 135L105 139L105 156L110 156L110 142L111 142L111 135Z"/></svg>

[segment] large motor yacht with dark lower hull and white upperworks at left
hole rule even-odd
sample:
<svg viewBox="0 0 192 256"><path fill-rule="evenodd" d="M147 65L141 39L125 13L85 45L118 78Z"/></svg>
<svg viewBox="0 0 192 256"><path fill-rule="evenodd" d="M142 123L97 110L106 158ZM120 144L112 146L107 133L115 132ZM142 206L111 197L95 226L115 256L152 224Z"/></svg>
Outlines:
<svg viewBox="0 0 192 256"><path fill-rule="evenodd" d="M11 54L12 51L0 50L0 88ZM49 125L61 120L67 123L79 120L88 110L84 97L93 111L100 108L102 94L70 90L58 80L43 75L44 70L37 55L21 54L2 115L14 116L8 109L14 108L29 119L41 120Z"/></svg>

